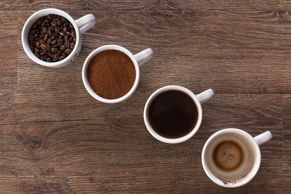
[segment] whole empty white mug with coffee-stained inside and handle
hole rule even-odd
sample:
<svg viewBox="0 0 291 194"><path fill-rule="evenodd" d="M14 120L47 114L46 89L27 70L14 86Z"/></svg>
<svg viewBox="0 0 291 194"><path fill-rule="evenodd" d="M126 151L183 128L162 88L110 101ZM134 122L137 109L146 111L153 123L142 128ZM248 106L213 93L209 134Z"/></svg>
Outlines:
<svg viewBox="0 0 291 194"><path fill-rule="evenodd" d="M223 129L207 140L202 165L207 176L223 187L248 183L259 170L259 146L272 139L270 131L252 137L241 129Z"/></svg>

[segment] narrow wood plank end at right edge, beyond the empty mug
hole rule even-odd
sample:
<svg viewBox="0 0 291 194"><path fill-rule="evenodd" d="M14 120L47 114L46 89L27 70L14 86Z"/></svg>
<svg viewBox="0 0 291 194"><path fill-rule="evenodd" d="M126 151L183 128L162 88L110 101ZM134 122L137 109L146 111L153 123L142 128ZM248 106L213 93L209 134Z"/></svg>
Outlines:
<svg viewBox="0 0 291 194"><path fill-rule="evenodd" d="M291 178L291 95L283 96L283 177Z"/></svg>

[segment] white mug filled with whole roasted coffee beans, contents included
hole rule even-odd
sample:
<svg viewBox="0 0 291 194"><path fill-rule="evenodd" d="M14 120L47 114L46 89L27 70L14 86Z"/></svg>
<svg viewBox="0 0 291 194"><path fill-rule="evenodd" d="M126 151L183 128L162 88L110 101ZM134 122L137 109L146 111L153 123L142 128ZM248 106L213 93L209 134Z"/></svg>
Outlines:
<svg viewBox="0 0 291 194"><path fill-rule="evenodd" d="M92 14L74 20L58 9L40 10L29 17L22 29L23 49L40 65L68 65L81 50L81 34L95 23L96 19Z"/></svg>

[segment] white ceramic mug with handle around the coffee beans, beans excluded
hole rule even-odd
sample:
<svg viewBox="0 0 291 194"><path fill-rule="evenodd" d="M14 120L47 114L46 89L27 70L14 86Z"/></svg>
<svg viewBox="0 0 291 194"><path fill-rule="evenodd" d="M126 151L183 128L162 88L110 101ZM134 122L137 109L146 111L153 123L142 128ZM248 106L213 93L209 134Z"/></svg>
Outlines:
<svg viewBox="0 0 291 194"><path fill-rule="evenodd" d="M30 49L30 43L28 40L30 29L32 28L32 25L41 17L47 16L49 14L55 14L59 16L65 17L71 24L74 26L76 31L76 45L73 51L62 61L58 62L45 62L41 59L37 58L32 50ZM95 16L92 14L88 14L86 16L82 16L81 18L74 20L70 15L65 13L62 10L59 9L43 9L38 12L35 12L28 18L26 23L23 26L21 39L22 39L22 46L26 54L34 61L35 63L38 63L40 65L48 66L48 67L62 67L65 65L68 65L71 63L80 53L81 47L82 47L82 38L81 34L89 30L94 24L96 23Z"/></svg>

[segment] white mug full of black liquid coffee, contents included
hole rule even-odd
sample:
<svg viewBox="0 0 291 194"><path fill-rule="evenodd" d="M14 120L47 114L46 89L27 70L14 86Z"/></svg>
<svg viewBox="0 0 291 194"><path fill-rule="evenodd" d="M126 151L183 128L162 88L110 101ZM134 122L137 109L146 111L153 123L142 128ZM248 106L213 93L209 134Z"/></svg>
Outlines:
<svg viewBox="0 0 291 194"><path fill-rule="evenodd" d="M187 88L170 85L147 100L144 119L147 130L158 140L177 144L190 139L202 122L201 104L214 96L212 89L194 95Z"/></svg>

